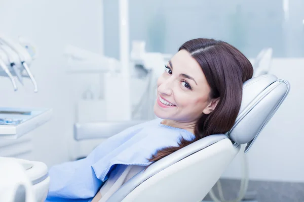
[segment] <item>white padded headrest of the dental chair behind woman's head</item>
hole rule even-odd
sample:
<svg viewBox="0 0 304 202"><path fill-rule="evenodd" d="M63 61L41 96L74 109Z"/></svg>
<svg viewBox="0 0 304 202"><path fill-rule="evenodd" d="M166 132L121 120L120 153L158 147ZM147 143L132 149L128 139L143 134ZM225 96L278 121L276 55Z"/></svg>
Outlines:
<svg viewBox="0 0 304 202"><path fill-rule="evenodd" d="M247 143L245 153L282 104L289 93L289 86L287 81L278 80L272 74L244 82L241 109L227 135L237 144Z"/></svg>

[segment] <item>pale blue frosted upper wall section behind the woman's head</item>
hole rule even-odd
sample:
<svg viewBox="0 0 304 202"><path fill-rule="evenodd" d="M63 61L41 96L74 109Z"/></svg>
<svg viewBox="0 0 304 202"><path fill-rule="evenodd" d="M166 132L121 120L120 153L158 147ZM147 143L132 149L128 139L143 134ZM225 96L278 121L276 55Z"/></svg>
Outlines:
<svg viewBox="0 0 304 202"><path fill-rule="evenodd" d="M117 59L118 8L117 0L104 0L104 54ZM276 58L303 57L303 10L302 0L130 0L130 41L146 41L148 52L174 54L188 39L211 37L249 58L263 47L274 48Z"/></svg>

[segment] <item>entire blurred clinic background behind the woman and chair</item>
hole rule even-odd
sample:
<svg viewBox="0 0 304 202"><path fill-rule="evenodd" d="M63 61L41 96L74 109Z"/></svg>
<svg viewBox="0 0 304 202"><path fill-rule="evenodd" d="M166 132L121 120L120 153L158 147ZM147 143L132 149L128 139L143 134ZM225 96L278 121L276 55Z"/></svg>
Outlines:
<svg viewBox="0 0 304 202"><path fill-rule="evenodd" d="M53 110L24 141L0 147L0 156L49 167L85 157L104 139L75 140L75 123L153 119L151 92L162 64L186 40L214 38L236 46L262 73L290 82L289 96L247 155L249 191L258 201L304 201L304 1L129 0L128 15L120 21L117 0L0 0L0 38L31 42L39 86L35 93L25 78L14 91L1 76L0 106ZM116 75L129 66L127 80ZM130 85L122 92L124 82ZM227 198L239 190L240 162L222 176Z"/></svg>

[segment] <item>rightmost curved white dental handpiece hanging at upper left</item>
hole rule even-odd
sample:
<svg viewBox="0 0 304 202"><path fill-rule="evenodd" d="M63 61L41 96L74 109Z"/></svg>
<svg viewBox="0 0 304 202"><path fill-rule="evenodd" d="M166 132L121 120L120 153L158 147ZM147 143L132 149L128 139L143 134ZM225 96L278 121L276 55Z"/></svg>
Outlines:
<svg viewBox="0 0 304 202"><path fill-rule="evenodd" d="M34 92L38 91L38 87L37 87L37 83L35 78L33 77L31 71L29 70L28 64L31 63L32 61L32 57L30 56L29 52L26 50L25 47L23 47L22 45L13 42L12 40L10 40L7 37L3 37L0 35L0 42L10 46L13 51L15 51L19 57L19 60L21 62L21 65L23 66L23 68L25 69L25 71L27 72L27 75L29 76L29 78L31 79L33 86L34 86Z"/></svg>

